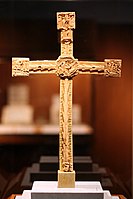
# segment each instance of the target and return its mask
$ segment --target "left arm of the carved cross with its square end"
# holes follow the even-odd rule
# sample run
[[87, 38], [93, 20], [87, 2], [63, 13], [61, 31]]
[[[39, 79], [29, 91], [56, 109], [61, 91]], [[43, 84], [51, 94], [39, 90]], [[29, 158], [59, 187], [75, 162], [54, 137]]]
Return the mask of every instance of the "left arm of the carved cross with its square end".
[[56, 61], [30, 61], [29, 58], [12, 58], [12, 76], [28, 76], [34, 73], [55, 73]]

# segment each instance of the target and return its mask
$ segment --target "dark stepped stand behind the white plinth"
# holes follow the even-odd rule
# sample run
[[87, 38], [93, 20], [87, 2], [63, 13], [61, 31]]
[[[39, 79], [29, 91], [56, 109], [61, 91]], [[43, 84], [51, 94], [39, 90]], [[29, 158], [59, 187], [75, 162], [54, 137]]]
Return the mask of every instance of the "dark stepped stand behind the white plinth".
[[[39, 163], [28, 167], [23, 176], [21, 187], [31, 189], [34, 181], [57, 181], [57, 156], [41, 156]], [[106, 168], [99, 167], [90, 156], [74, 156], [77, 181], [100, 181], [103, 189], [112, 189], [113, 184]]]

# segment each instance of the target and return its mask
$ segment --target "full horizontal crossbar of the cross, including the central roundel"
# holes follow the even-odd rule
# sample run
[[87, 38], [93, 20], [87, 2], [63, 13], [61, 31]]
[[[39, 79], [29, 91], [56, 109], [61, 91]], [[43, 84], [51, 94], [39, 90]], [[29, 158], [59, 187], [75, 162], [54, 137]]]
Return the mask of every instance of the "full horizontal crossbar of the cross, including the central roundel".
[[35, 73], [52, 73], [60, 78], [72, 79], [78, 74], [98, 74], [121, 77], [121, 60], [105, 59], [104, 62], [78, 61], [74, 57], [61, 57], [56, 61], [29, 61], [29, 58], [12, 59], [12, 76], [28, 76]]

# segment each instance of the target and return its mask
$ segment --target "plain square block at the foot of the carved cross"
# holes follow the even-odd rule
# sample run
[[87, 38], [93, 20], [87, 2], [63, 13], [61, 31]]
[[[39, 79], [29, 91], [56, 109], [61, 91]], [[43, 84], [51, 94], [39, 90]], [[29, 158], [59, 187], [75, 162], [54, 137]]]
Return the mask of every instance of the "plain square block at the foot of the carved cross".
[[74, 188], [75, 171], [63, 172], [58, 170], [58, 188]]

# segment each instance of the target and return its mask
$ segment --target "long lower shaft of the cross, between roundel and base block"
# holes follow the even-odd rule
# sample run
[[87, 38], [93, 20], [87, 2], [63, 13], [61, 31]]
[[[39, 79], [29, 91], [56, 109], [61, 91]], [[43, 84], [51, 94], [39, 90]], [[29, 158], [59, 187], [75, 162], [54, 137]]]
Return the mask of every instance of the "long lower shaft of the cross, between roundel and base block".
[[73, 171], [72, 80], [60, 80], [60, 170]]

